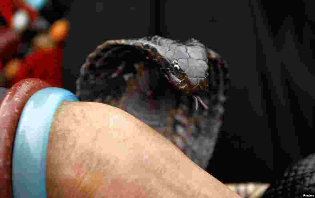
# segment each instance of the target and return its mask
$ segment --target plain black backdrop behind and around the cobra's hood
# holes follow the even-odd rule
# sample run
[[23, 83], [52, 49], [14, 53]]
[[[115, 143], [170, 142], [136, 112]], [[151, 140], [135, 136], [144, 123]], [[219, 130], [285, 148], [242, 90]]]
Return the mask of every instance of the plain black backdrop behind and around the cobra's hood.
[[64, 85], [107, 39], [195, 38], [229, 63], [232, 86], [209, 173], [222, 182], [271, 182], [314, 153], [312, 1], [75, 1], [65, 17]]

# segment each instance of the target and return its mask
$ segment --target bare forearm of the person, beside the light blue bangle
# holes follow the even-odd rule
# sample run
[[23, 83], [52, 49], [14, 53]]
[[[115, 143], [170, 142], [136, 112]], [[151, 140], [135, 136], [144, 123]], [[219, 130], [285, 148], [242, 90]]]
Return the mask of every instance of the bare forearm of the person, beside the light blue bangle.
[[46, 189], [48, 198], [239, 198], [151, 127], [96, 102], [59, 106]]

